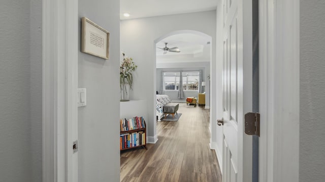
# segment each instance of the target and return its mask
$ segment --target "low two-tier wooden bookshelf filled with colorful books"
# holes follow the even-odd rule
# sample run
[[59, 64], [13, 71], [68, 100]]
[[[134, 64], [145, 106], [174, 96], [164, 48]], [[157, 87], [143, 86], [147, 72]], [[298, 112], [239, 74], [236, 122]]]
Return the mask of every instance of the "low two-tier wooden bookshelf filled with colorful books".
[[147, 149], [146, 122], [143, 117], [120, 119], [120, 150], [136, 147]]

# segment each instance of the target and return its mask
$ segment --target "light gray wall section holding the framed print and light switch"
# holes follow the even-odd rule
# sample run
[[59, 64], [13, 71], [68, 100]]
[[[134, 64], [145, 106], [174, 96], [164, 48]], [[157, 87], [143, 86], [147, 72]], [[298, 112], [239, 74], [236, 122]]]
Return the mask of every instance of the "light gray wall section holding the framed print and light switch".
[[79, 50], [78, 87], [87, 89], [87, 106], [78, 108], [79, 181], [119, 181], [120, 177], [119, 9], [119, 1], [79, 1], [79, 37], [84, 16], [110, 32], [109, 60]]

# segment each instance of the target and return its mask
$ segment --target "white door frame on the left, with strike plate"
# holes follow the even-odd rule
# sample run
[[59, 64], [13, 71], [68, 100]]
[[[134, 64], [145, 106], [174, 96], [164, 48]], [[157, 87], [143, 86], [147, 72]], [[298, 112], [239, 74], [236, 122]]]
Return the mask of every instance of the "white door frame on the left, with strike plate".
[[43, 0], [43, 181], [78, 181], [78, 0]]

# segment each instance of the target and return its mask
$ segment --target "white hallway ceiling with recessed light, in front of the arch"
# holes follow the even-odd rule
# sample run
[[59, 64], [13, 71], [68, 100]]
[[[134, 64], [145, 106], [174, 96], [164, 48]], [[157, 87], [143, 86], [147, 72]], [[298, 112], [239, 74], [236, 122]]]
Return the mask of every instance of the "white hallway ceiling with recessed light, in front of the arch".
[[[216, 0], [121, 0], [120, 19], [134, 19], [215, 10]], [[124, 17], [129, 13], [129, 17]]]

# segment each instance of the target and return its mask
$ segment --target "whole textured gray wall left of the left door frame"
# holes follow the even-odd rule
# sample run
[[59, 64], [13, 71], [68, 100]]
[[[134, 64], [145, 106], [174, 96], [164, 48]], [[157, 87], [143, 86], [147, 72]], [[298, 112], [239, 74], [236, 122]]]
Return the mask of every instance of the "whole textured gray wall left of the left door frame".
[[0, 22], [0, 181], [42, 181], [42, 1], [2, 1]]

